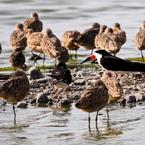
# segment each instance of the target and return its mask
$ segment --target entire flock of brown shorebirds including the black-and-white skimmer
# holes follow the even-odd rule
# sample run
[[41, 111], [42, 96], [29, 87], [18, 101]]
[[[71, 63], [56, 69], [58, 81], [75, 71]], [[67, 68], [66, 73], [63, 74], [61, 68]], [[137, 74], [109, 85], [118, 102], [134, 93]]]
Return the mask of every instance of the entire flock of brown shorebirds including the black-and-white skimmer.
[[[76, 51], [75, 58], [77, 58], [77, 50], [80, 47], [91, 50], [91, 55], [80, 64], [94, 61], [103, 69], [103, 75], [96, 81], [95, 86], [90, 86], [84, 90], [75, 106], [89, 113], [89, 130], [90, 113], [97, 112], [97, 129], [98, 112], [107, 107], [108, 104], [118, 101], [123, 93], [122, 86], [117, 79], [118, 74], [114, 72], [145, 72], [145, 64], [126, 61], [115, 56], [127, 40], [126, 33], [121, 29], [119, 23], [115, 23], [113, 28], [94, 23], [91, 28], [82, 33], [76, 30], [66, 31], [61, 41], [53, 34], [50, 28], [47, 28], [46, 31], [42, 30], [43, 23], [36, 12], [32, 13], [31, 17], [26, 19], [23, 24], [16, 25], [10, 36], [10, 45], [13, 48], [10, 57], [12, 66], [25, 70], [27, 66], [25, 65], [23, 52], [26, 47], [31, 49], [31, 60], [35, 63], [39, 59], [43, 59], [44, 63], [46, 56], [54, 58], [55, 64], [58, 61], [58, 65], [50, 76], [58, 80], [59, 83], [55, 84], [56, 87], [64, 86], [66, 96], [68, 96], [67, 90], [68, 85], [72, 82], [72, 76], [65, 63], [69, 60], [69, 57], [72, 57], [70, 51]], [[135, 43], [136, 47], [141, 51], [141, 56], [144, 60], [142, 50], [145, 50], [145, 22], [142, 23], [139, 32], [136, 34]], [[97, 49], [97, 51], [93, 52], [94, 49]], [[36, 53], [40, 54], [37, 55]], [[41, 54], [43, 54], [43, 58]], [[13, 104], [15, 125], [15, 104], [28, 95], [29, 89], [29, 79], [22, 70], [17, 70], [0, 87], [0, 98]], [[109, 120], [108, 109], [107, 116]]]

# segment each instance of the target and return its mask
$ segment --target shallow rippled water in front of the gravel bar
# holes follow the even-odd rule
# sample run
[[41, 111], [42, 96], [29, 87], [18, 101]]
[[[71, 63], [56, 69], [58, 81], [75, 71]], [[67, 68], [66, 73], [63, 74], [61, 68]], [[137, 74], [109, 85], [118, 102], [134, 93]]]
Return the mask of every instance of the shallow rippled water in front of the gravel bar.
[[109, 108], [111, 128], [106, 124], [106, 111], [99, 115], [98, 128], [95, 130], [95, 113], [91, 114], [91, 133], [88, 131], [88, 114], [77, 110], [17, 108], [18, 127], [13, 126], [12, 107], [0, 110], [1, 145], [143, 145], [145, 142], [144, 105], [121, 108]]

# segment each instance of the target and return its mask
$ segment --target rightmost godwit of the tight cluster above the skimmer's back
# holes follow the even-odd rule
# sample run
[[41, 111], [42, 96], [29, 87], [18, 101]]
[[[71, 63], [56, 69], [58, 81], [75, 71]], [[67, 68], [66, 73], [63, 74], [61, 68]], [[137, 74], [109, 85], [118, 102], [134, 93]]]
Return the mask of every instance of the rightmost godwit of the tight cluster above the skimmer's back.
[[114, 23], [113, 34], [115, 34], [118, 37], [118, 41], [121, 46], [126, 42], [126, 40], [127, 40], [126, 33], [125, 33], [125, 31], [123, 31], [121, 29], [121, 26], [119, 23]]

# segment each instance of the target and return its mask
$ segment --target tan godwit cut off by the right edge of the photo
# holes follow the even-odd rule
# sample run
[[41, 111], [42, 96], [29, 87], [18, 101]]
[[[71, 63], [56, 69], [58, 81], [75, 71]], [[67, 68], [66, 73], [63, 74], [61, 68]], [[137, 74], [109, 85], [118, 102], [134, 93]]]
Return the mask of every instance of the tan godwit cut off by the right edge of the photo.
[[143, 50], [145, 50], [145, 22], [141, 24], [139, 32], [137, 32], [135, 37], [136, 48], [141, 51], [141, 57], [144, 61]]

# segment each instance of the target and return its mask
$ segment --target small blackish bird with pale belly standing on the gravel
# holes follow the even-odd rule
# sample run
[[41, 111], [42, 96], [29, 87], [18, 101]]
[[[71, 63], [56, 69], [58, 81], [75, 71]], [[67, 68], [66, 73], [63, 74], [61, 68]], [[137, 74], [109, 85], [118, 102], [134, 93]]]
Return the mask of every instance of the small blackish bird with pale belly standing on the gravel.
[[56, 79], [53, 86], [58, 91], [55, 96], [58, 96], [61, 91], [64, 90], [66, 97], [68, 98], [69, 84], [72, 82], [72, 75], [66, 64], [60, 62], [49, 76]]

